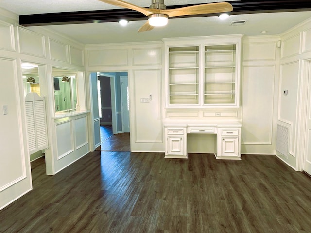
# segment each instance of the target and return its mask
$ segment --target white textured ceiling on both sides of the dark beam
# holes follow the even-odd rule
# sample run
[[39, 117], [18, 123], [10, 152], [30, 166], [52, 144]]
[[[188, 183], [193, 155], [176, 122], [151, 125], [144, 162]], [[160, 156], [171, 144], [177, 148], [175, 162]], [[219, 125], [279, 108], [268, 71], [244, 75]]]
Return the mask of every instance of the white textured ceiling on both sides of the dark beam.
[[[219, 0], [221, 1], [221, 0]], [[128, 0], [133, 4], [148, 7], [150, 0]], [[184, 5], [217, 2], [217, 0], [166, 0], [166, 5]], [[0, 7], [17, 15], [106, 10], [118, 7], [105, 4], [98, 0], [1, 0]], [[310, 11], [259, 13], [232, 15], [222, 21], [219, 17], [170, 18], [165, 27], [138, 33], [144, 21], [132, 21], [122, 27], [117, 22], [51, 25], [43, 26], [62, 33], [83, 44], [159, 41], [162, 38], [207, 36], [224, 34], [275, 35], [283, 33], [296, 24], [311, 18]], [[248, 20], [244, 25], [230, 26], [232, 21]], [[32, 27], [30, 27], [32, 28]], [[267, 33], [261, 33], [266, 31]]]

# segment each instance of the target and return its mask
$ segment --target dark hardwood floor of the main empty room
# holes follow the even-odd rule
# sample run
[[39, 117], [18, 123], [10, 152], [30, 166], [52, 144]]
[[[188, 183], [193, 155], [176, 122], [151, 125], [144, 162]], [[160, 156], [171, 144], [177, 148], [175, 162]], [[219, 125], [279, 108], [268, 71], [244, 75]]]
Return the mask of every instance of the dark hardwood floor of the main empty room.
[[1, 233], [310, 233], [311, 178], [275, 156], [87, 154], [0, 211]]

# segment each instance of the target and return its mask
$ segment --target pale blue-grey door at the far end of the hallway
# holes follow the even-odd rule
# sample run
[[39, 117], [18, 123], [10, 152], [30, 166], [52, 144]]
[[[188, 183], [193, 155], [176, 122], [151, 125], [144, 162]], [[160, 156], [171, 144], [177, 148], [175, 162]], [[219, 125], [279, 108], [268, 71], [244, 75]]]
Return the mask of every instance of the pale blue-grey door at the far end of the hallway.
[[121, 76], [121, 97], [123, 132], [130, 132], [130, 105], [127, 76]]

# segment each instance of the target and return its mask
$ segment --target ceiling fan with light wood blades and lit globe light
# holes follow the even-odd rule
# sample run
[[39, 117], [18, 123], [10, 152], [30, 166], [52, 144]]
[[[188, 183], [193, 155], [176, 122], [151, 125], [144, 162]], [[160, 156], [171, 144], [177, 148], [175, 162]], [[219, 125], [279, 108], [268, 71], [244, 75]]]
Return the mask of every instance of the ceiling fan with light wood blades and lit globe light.
[[145, 16], [148, 16], [148, 21], [144, 25], [142, 25], [142, 27], [138, 30], [138, 32], [150, 31], [154, 27], [164, 26], [167, 24], [169, 17], [221, 13], [221, 12], [230, 12], [233, 10], [232, 5], [228, 2], [199, 4], [194, 6], [186, 6], [167, 10], [166, 5], [164, 4], [164, 0], [152, 0], [149, 8], [140, 7], [122, 0], [99, 0], [99, 1], [135, 10], [144, 14]]

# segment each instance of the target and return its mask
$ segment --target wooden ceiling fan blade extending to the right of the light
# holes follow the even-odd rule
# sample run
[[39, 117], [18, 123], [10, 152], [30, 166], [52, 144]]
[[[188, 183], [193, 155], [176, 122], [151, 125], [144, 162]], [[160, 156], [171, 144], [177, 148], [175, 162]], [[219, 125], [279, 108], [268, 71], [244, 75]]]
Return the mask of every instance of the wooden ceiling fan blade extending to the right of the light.
[[230, 12], [232, 10], [233, 7], [230, 3], [217, 2], [217, 3], [207, 3], [159, 11], [162, 14], [168, 15], [169, 17], [174, 17], [174, 16], [189, 16], [189, 15], [201, 15], [209, 13]]

